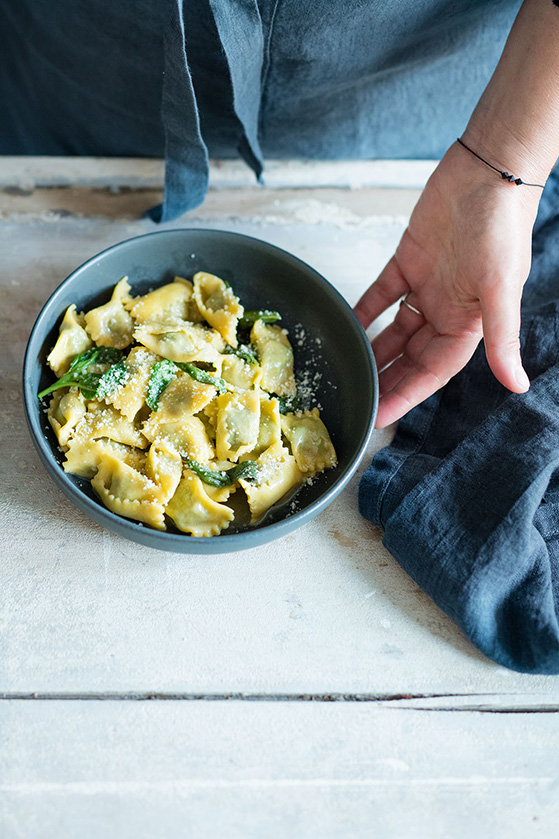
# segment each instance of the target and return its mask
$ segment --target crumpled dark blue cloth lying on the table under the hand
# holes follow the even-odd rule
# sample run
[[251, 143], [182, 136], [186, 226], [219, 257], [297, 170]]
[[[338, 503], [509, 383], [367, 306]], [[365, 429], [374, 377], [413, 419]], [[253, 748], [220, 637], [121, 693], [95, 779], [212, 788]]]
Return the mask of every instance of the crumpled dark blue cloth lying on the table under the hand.
[[559, 175], [536, 222], [511, 394], [480, 346], [399, 423], [364, 474], [362, 514], [400, 565], [487, 656], [559, 673]]

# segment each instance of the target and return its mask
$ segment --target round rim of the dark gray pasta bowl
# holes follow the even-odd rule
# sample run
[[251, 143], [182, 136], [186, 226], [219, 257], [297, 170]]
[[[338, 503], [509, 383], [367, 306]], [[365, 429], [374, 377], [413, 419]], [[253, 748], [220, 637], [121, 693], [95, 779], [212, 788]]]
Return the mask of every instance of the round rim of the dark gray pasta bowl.
[[[244, 530], [240, 533], [227, 534], [227, 532], [225, 531], [224, 533], [220, 534], [219, 537], [210, 538], [204, 536], [190, 536], [186, 533], [173, 533], [170, 531], [156, 530], [155, 528], [151, 528], [148, 525], [143, 525], [141, 522], [125, 518], [124, 516], [119, 516], [116, 513], [113, 513], [108, 508], [104, 507], [100, 501], [93, 501], [91, 498], [89, 498], [89, 496], [87, 496], [79, 487], [77, 487], [73, 483], [73, 481], [70, 478], [66, 476], [66, 473], [54, 460], [52, 446], [49, 443], [48, 439], [45, 437], [40, 426], [40, 404], [39, 402], [37, 402], [36, 394], [31, 393], [31, 385], [29, 381], [30, 376], [28, 375], [28, 369], [30, 365], [34, 363], [34, 361], [36, 360], [36, 355], [39, 350], [39, 347], [36, 346], [39, 342], [39, 331], [44, 329], [44, 324], [47, 316], [52, 316], [52, 313], [50, 313], [49, 310], [55, 304], [56, 298], [63, 295], [66, 286], [68, 286], [73, 280], [76, 279], [77, 276], [83, 273], [83, 271], [85, 271], [93, 263], [98, 262], [101, 258], [107, 256], [108, 254], [114, 251], [125, 251], [128, 248], [133, 247], [133, 245], [137, 243], [138, 240], [143, 241], [154, 236], [158, 238], [166, 236], [176, 236], [177, 234], [182, 233], [204, 233], [210, 234], [210, 236], [216, 235], [219, 237], [225, 236], [239, 239], [244, 242], [247, 242], [249, 245], [251, 243], [256, 243], [258, 247], [264, 247], [265, 250], [272, 252], [272, 254], [275, 253], [283, 259], [287, 258], [287, 260], [291, 262], [299, 270], [302, 270], [304, 272], [311, 272], [314, 275], [314, 279], [318, 281], [319, 286], [322, 286], [323, 291], [326, 292], [331, 298], [334, 298], [338, 305], [341, 305], [341, 307], [351, 315], [351, 318], [354, 319], [354, 325], [356, 327], [357, 334], [359, 335], [359, 338], [365, 347], [366, 355], [368, 356], [370, 361], [368, 371], [371, 376], [372, 404], [369, 422], [367, 423], [366, 428], [361, 434], [359, 445], [353, 457], [351, 458], [349, 464], [346, 466], [343, 474], [339, 476], [339, 478], [335, 481], [333, 486], [331, 486], [315, 501], [309, 504], [308, 507], [305, 507], [304, 509], [297, 511], [293, 513], [293, 515], [281, 519], [278, 522], [274, 522], [269, 525], [266, 525], [264, 523], [261, 526], [256, 526], [254, 529]], [[41, 341], [41, 346], [43, 342], [44, 336]], [[349, 483], [349, 481], [355, 474], [359, 466], [359, 463], [361, 462], [361, 459], [365, 454], [365, 450], [374, 430], [379, 399], [378, 371], [373, 351], [371, 349], [371, 344], [369, 342], [369, 339], [367, 338], [363, 326], [359, 322], [358, 318], [355, 316], [351, 306], [349, 305], [345, 297], [338, 291], [338, 289], [335, 288], [335, 286], [329, 280], [327, 280], [326, 277], [320, 274], [315, 268], [306, 263], [304, 260], [295, 256], [289, 251], [286, 251], [283, 248], [272, 244], [271, 242], [267, 242], [263, 239], [258, 239], [255, 236], [249, 236], [244, 233], [237, 233], [235, 231], [221, 230], [215, 228], [172, 228], [170, 230], [157, 230], [151, 233], [132, 236], [129, 239], [123, 239], [120, 242], [116, 242], [115, 244], [110, 245], [109, 247], [105, 248], [102, 251], [99, 251], [89, 259], [82, 262], [77, 268], [75, 268], [70, 274], [68, 274], [68, 276], [64, 280], [62, 280], [62, 282], [53, 290], [53, 292], [49, 295], [49, 297], [41, 307], [29, 334], [27, 346], [25, 348], [22, 374], [23, 406], [25, 412], [25, 419], [27, 422], [32, 442], [49, 476], [54, 480], [54, 482], [58, 485], [58, 487], [62, 490], [66, 497], [69, 498], [69, 500], [71, 500], [72, 503], [74, 503], [79, 510], [86, 510], [87, 515], [91, 519], [96, 521], [98, 524], [101, 524], [103, 527], [107, 528], [113, 533], [117, 533], [118, 535], [128, 538], [134, 542], [140, 542], [151, 548], [157, 548], [159, 550], [166, 550], [179, 553], [232, 553], [234, 551], [239, 550], [248, 550], [251, 547], [260, 547], [261, 545], [267, 542], [271, 542], [295, 530], [296, 528], [304, 524], [306, 521], [309, 521], [316, 515], [318, 515], [318, 513], [324, 510], [339, 495], [339, 493], [346, 487], [346, 485]], [[128, 531], [130, 531], [129, 534]], [[142, 538], [144, 536], [145, 538]], [[181, 549], [181, 545], [183, 546], [183, 549]], [[212, 545], [215, 546], [213, 549], [211, 548]], [[184, 550], [184, 547], [186, 547], [187, 550]]]

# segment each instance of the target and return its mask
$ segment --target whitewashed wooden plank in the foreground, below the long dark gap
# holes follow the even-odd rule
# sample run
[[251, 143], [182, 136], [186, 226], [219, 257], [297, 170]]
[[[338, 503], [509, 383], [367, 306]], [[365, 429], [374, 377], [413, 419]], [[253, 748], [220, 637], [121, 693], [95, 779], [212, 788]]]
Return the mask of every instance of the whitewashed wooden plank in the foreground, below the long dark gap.
[[2, 702], [5, 839], [531, 839], [559, 715], [344, 703]]

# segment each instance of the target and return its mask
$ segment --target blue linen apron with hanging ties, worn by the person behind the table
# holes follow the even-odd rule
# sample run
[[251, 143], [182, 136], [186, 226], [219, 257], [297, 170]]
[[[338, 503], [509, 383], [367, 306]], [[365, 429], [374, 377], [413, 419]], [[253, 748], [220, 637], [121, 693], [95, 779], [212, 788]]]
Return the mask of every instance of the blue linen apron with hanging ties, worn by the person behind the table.
[[208, 155], [440, 157], [519, 0], [2, 0], [0, 153], [165, 156], [168, 221]]

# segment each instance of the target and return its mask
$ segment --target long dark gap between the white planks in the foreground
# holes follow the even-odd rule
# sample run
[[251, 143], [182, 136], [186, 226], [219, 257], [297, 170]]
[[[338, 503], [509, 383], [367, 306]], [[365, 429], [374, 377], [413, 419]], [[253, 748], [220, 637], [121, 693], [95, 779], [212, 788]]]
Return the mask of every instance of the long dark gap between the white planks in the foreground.
[[518, 694], [346, 694], [346, 693], [0, 693], [1, 701], [31, 702], [315, 702], [373, 703], [415, 711], [476, 711], [495, 714], [555, 714], [559, 701]]

